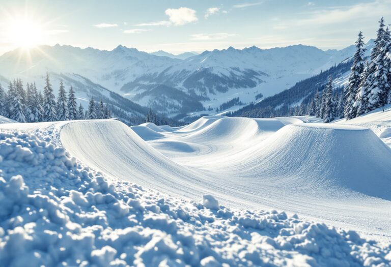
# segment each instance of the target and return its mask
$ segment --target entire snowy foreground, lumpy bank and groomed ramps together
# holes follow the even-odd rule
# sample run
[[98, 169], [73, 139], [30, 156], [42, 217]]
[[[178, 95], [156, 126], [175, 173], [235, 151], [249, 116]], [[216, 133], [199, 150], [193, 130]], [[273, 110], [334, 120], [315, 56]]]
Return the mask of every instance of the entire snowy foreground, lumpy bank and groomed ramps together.
[[366, 128], [0, 129], [0, 266], [390, 266], [391, 150]]

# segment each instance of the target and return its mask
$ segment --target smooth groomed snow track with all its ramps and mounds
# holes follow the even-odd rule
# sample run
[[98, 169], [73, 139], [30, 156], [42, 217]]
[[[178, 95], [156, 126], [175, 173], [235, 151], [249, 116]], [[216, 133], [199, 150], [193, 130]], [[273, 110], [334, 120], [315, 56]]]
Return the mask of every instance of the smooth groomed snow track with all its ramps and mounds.
[[91, 168], [165, 195], [391, 236], [391, 149], [367, 128], [208, 116], [180, 128], [70, 122], [60, 136]]

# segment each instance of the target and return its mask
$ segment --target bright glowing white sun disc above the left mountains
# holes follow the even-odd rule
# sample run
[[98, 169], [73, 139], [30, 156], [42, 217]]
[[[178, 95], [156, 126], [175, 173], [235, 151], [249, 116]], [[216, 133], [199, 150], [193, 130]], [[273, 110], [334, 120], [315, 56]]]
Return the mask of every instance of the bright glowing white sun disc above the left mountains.
[[31, 49], [43, 41], [43, 28], [30, 18], [12, 18], [7, 23], [7, 36], [14, 46]]

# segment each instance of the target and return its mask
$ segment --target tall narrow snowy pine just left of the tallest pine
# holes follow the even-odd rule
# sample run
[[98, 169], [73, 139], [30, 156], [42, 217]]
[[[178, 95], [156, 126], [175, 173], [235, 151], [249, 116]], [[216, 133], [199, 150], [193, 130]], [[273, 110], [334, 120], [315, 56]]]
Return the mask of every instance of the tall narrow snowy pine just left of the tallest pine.
[[354, 105], [355, 98], [358, 92], [358, 86], [360, 84], [360, 75], [364, 72], [365, 68], [365, 48], [364, 41], [362, 41], [364, 37], [362, 36], [362, 32], [358, 33], [358, 39], [356, 41], [356, 52], [353, 56], [353, 65], [351, 67], [351, 72], [349, 75], [348, 84], [346, 86], [346, 103], [345, 103], [345, 117], [346, 120], [350, 120], [354, 118], [357, 114], [357, 108]]

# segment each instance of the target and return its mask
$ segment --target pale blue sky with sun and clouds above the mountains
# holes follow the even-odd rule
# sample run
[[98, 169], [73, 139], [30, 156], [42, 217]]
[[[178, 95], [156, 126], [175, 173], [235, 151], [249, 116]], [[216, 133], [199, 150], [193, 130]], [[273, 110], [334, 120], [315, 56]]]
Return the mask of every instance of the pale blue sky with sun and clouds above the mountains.
[[19, 46], [118, 45], [174, 54], [312, 45], [341, 49], [391, 23], [391, 0], [0, 0], [0, 54]]

